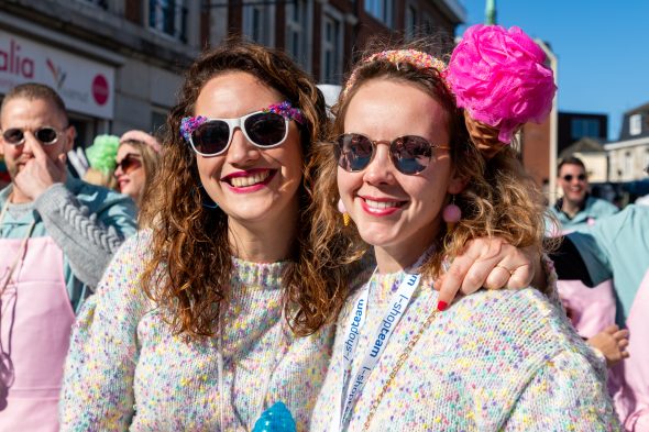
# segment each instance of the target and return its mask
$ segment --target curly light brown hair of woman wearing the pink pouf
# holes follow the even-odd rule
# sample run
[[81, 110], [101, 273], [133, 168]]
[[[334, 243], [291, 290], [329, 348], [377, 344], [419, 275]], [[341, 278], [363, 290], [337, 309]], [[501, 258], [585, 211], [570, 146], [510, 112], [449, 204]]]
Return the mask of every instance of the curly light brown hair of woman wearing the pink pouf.
[[[435, 42], [433, 42], [435, 44]], [[386, 59], [365, 62], [372, 54], [384, 49], [414, 48], [436, 55], [430, 49], [430, 41], [417, 41], [407, 46], [381, 46], [360, 56], [361, 60], [352, 70], [354, 77], [341, 93], [332, 111], [336, 115], [327, 142], [315, 146], [311, 168], [317, 178], [314, 196], [314, 224], [320, 226], [315, 232], [314, 247], [318, 253], [327, 250], [341, 250], [345, 239], [353, 246], [346, 246], [346, 255], [333, 255], [341, 263], [358, 261], [367, 250], [353, 223], [340, 231], [340, 213], [337, 202], [340, 195], [337, 188], [337, 160], [332, 142], [344, 131], [344, 119], [350, 101], [358, 90], [371, 80], [387, 79], [419, 87], [439, 102], [448, 113], [448, 131], [451, 146], [451, 162], [457, 175], [466, 181], [463, 191], [455, 196], [455, 204], [462, 210], [462, 220], [452, 231], [441, 230], [438, 242], [442, 247], [425, 263], [422, 273], [436, 277], [441, 269], [442, 259], [452, 259], [462, 253], [468, 241], [475, 237], [501, 236], [517, 247], [543, 247], [544, 204], [540, 189], [525, 173], [512, 146], [501, 149], [487, 159], [479, 151], [481, 137], [471, 136], [464, 121], [463, 110], [455, 104], [455, 98], [435, 68], [420, 68], [408, 63], [398, 65]], [[438, 58], [444, 58], [437, 55]], [[446, 56], [448, 58], [448, 56]], [[450, 197], [448, 197], [450, 199]]]

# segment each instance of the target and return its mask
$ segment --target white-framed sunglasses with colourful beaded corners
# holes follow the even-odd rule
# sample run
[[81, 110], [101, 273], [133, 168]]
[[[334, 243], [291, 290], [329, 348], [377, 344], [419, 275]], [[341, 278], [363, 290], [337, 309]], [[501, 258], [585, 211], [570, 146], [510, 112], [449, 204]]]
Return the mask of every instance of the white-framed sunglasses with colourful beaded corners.
[[258, 148], [282, 145], [288, 136], [289, 120], [301, 124], [304, 117], [300, 110], [285, 101], [238, 119], [208, 119], [202, 115], [184, 118], [180, 133], [199, 155], [218, 156], [228, 151], [238, 128]]

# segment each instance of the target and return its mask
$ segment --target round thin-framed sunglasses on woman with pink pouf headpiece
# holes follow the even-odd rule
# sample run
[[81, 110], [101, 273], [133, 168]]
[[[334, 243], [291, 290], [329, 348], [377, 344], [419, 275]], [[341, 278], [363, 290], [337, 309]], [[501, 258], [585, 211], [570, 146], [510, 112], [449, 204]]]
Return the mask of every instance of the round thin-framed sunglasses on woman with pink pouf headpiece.
[[431, 144], [428, 140], [417, 135], [405, 135], [387, 140], [370, 140], [360, 133], [345, 133], [341, 135], [334, 146], [338, 165], [349, 173], [365, 169], [374, 155], [376, 145], [389, 146], [389, 157], [395, 168], [402, 174], [414, 175], [428, 167], [432, 158], [433, 148], [451, 149], [449, 146]]

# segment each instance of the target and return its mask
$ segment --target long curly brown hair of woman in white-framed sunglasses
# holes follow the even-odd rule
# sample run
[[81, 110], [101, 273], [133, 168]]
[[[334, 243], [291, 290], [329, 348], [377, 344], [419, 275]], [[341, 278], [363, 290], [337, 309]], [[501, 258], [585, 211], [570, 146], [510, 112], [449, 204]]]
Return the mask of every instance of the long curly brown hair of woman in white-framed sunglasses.
[[[180, 121], [193, 115], [204, 86], [218, 75], [244, 71], [278, 91], [301, 110], [306, 124], [299, 128], [305, 168], [311, 143], [326, 136], [324, 99], [312, 79], [284, 53], [238, 40], [204, 53], [189, 68], [179, 101], [172, 109], [163, 139], [163, 157], [144, 202], [141, 223], [152, 226], [152, 259], [142, 278], [146, 295], [165, 313], [176, 333], [196, 336], [215, 334], [219, 308], [227, 301], [232, 273], [232, 248], [228, 241], [228, 215], [202, 206], [196, 157], [180, 136]], [[297, 235], [293, 264], [283, 275], [284, 308], [297, 334], [310, 334], [344, 300], [344, 281], [327, 273], [328, 263], [316, 256], [309, 244], [312, 210], [310, 176], [302, 170], [298, 190]]]

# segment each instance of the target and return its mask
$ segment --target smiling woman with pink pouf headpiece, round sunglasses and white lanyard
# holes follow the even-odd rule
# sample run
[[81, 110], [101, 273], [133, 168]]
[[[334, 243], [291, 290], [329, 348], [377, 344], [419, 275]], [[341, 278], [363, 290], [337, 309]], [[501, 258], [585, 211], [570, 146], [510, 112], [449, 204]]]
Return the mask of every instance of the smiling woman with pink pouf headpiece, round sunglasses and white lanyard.
[[557, 299], [483, 290], [433, 307], [431, 280], [468, 239], [542, 247], [542, 197], [506, 144], [554, 91], [517, 27], [468, 29], [448, 68], [413, 46], [354, 67], [314, 160], [314, 202], [340, 230], [342, 200], [377, 267], [339, 315], [312, 431], [617, 430], [605, 366]]

